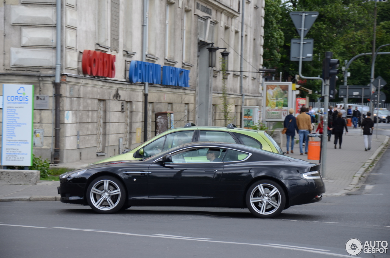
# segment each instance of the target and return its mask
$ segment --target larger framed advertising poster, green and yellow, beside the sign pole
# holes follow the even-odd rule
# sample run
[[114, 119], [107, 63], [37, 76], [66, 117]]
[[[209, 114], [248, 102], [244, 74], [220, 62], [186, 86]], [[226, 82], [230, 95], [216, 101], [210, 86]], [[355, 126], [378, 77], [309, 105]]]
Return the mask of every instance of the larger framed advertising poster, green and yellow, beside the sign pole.
[[264, 90], [266, 97], [264, 120], [284, 121], [289, 110], [291, 83], [266, 83]]

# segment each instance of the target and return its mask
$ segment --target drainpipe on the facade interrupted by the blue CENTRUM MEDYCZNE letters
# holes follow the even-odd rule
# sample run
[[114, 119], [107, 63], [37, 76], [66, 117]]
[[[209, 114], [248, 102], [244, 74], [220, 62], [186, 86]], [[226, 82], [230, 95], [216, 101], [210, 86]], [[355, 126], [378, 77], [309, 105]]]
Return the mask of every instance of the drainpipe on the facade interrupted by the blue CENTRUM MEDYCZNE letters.
[[[142, 37], [142, 61], [145, 62], [146, 61], [146, 42], [147, 42], [147, 37], [148, 37], [148, 34], [147, 34], [147, 16], [146, 16], [146, 12], [147, 10], [149, 9], [149, 0], [144, 0], [144, 18], [143, 18], [143, 22], [142, 22], [142, 34], [143, 34], [143, 37]], [[144, 142], [147, 141], [147, 121], [148, 121], [148, 117], [147, 117], [147, 96], [148, 96], [148, 87], [149, 87], [149, 83], [145, 82], [144, 83]]]

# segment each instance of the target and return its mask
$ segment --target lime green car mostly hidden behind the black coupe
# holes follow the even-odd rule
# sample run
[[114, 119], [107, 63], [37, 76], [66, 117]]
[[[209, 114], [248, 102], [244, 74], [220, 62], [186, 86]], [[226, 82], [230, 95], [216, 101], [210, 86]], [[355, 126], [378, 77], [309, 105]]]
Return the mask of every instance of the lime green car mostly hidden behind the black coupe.
[[194, 124], [188, 123], [184, 127], [168, 129], [124, 154], [108, 157], [93, 164], [108, 161], [142, 159], [194, 141], [239, 143], [283, 154], [280, 146], [266, 131], [242, 129], [233, 124], [229, 124], [227, 127], [211, 127], [195, 126]]

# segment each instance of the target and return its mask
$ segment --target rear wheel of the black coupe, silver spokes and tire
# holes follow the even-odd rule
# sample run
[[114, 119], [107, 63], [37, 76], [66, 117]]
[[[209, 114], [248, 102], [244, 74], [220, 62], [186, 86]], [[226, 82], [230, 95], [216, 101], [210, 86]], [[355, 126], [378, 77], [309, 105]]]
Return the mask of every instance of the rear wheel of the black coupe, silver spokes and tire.
[[245, 201], [246, 207], [255, 217], [268, 219], [278, 216], [282, 212], [286, 196], [277, 182], [259, 180], [249, 187]]

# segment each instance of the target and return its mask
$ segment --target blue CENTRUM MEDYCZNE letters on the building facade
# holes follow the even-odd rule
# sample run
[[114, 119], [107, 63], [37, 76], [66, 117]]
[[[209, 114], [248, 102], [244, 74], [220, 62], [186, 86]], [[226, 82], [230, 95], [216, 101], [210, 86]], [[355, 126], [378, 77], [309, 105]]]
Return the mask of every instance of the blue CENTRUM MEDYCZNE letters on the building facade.
[[[163, 85], [190, 87], [190, 70], [179, 67], [163, 66]], [[129, 67], [129, 81], [132, 83], [147, 82], [161, 84], [161, 65], [142, 61], [131, 61]]]

